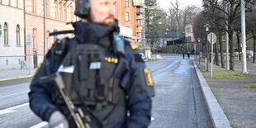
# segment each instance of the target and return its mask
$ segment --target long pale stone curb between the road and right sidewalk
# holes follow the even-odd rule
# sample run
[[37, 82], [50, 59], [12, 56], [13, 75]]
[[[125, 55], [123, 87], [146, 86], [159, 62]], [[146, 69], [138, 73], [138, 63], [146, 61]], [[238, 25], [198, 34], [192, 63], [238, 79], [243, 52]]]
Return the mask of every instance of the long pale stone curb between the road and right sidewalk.
[[201, 86], [201, 92], [205, 98], [207, 110], [211, 117], [211, 122], [215, 128], [231, 128], [230, 121], [224, 114], [224, 111], [220, 107], [220, 104], [217, 102], [216, 97], [214, 97], [211, 92], [211, 88], [206, 83], [206, 79], [201, 74], [200, 70], [197, 68], [197, 64], [193, 61], [195, 70], [197, 72], [197, 78]]

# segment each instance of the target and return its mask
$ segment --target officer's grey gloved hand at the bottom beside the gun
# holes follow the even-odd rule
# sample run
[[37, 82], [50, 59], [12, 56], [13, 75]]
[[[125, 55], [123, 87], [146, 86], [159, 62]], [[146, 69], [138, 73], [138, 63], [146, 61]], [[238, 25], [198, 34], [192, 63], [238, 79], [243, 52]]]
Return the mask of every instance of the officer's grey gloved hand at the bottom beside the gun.
[[55, 111], [50, 116], [49, 128], [69, 128], [69, 122], [60, 111]]

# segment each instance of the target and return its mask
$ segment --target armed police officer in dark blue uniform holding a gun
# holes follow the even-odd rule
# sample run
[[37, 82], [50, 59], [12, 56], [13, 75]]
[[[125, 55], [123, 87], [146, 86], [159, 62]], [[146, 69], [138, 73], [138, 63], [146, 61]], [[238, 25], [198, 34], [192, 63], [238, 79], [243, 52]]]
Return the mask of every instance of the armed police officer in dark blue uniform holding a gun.
[[77, 0], [75, 37], [56, 40], [31, 81], [31, 110], [50, 128], [149, 126], [154, 81], [137, 46], [118, 35], [115, 4]]

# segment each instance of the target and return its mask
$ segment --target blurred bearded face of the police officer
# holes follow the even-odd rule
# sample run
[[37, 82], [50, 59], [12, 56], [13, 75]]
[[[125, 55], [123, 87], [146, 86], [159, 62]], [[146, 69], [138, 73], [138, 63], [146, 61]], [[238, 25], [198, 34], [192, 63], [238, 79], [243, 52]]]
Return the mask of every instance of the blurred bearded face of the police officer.
[[115, 23], [116, 0], [91, 0], [92, 21], [113, 26]]

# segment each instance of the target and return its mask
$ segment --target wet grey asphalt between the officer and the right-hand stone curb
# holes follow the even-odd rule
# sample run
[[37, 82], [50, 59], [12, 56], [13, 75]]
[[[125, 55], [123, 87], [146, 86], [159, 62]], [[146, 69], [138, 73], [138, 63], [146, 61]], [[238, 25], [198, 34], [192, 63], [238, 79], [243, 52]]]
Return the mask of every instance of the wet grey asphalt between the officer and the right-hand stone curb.
[[182, 55], [163, 58], [147, 63], [156, 84], [150, 127], [211, 128], [192, 59], [180, 59]]

